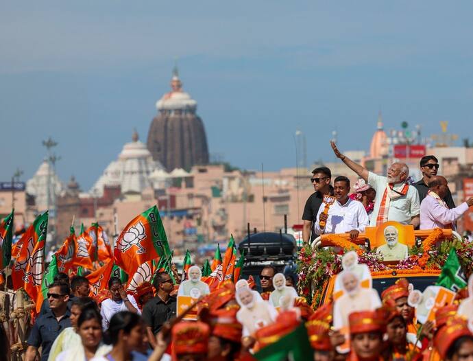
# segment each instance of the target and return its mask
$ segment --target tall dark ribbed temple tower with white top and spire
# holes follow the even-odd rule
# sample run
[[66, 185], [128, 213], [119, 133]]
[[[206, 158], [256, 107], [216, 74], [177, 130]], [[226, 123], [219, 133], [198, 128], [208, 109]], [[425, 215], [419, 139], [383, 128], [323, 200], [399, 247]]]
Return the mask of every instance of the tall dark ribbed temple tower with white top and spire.
[[175, 168], [190, 170], [208, 163], [207, 137], [197, 102], [182, 91], [178, 69], [173, 70], [171, 91], [156, 102], [158, 115], [149, 127], [147, 147], [153, 159], [168, 172]]

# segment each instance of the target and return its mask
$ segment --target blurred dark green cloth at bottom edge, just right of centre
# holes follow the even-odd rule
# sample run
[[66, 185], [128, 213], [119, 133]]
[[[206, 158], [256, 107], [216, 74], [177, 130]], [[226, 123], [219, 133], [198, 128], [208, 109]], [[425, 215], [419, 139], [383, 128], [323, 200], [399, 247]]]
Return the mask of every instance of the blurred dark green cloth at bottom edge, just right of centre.
[[287, 360], [287, 358], [293, 361], [312, 360], [313, 350], [308, 342], [304, 323], [290, 334], [260, 349], [260, 351], [255, 353], [254, 358], [264, 361], [283, 361]]

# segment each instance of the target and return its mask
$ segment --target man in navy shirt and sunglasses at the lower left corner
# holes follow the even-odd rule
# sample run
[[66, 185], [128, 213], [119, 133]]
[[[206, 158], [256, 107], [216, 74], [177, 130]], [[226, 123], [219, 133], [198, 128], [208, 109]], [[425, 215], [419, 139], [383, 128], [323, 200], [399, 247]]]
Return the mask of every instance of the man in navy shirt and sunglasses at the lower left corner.
[[39, 316], [33, 325], [32, 331], [27, 340], [28, 348], [25, 354], [25, 361], [33, 361], [41, 346], [41, 361], [46, 361], [49, 351], [56, 337], [66, 327], [71, 327], [71, 312], [67, 308], [69, 301], [69, 285], [53, 282], [48, 287], [47, 300], [49, 310]]

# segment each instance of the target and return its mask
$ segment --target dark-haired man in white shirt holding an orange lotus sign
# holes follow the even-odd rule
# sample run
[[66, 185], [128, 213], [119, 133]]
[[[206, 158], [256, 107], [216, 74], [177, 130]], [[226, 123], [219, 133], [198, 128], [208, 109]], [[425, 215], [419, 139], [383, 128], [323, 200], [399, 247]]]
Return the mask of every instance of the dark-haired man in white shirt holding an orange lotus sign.
[[[330, 205], [328, 213], [324, 207], [319, 208], [315, 233], [350, 233], [350, 239], [356, 240], [360, 232], [365, 231], [368, 225], [368, 215], [363, 203], [348, 197], [350, 180], [345, 176], [337, 176], [333, 183], [334, 195], [337, 200]], [[325, 221], [325, 227], [320, 226], [320, 221]]]

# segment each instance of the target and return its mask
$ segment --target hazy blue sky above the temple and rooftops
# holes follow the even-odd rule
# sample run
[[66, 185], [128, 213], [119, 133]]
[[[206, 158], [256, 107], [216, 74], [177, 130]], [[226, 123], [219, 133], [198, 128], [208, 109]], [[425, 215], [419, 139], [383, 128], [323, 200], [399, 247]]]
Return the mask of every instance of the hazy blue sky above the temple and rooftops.
[[210, 153], [277, 170], [367, 149], [378, 110], [472, 137], [471, 1], [2, 1], [0, 180], [26, 180], [60, 144], [58, 173], [88, 189], [155, 103], [178, 57]]

